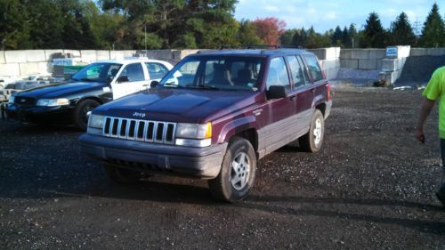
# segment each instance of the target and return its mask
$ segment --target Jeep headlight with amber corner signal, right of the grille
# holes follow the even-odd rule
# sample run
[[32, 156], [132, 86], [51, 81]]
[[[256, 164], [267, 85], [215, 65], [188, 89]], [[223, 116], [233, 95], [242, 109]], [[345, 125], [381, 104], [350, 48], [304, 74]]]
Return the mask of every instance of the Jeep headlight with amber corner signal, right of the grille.
[[176, 126], [176, 145], [204, 148], [212, 144], [212, 123]]

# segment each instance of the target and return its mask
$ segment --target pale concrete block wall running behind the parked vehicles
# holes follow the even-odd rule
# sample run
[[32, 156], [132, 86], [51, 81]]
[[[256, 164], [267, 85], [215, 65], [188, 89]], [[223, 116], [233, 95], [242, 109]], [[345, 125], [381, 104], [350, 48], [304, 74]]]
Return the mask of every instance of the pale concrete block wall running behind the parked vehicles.
[[[395, 61], [385, 60], [385, 49], [340, 49], [339, 47], [308, 50], [316, 54], [321, 68], [328, 79], [337, 77], [340, 68], [358, 70], [382, 70], [384, 72], [401, 71], [403, 59]], [[445, 55], [445, 48], [413, 48], [400, 49], [402, 58], [408, 56], [439, 56]], [[33, 74], [51, 75], [53, 72], [52, 59], [55, 53], [69, 53], [77, 58], [80, 64], [88, 64], [95, 60], [122, 60], [133, 56], [137, 51], [94, 51], [94, 50], [25, 50], [0, 51], [0, 77], [25, 77]], [[173, 64], [182, 58], [196, 53], [198, 50], [150, 50], [150, 59], [167, 60]], [[390, 69], [393, 69], [392, 71]], [[400, 72], [399, 72], [400, 73]], [[398, 72], [392, 73], [397, 75]], [[397, 76], [393, 77], [397, 77]], [[400, 75], [400, 74], [399, 74]]]

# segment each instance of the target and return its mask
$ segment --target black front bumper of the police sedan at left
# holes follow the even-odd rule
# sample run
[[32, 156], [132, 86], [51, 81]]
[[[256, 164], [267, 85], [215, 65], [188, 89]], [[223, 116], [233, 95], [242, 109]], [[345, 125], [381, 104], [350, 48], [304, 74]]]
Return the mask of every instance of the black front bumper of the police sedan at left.
[[21, 122], [71, 124], [74, 107], [39, 107], [8, 104], [6, 115]]

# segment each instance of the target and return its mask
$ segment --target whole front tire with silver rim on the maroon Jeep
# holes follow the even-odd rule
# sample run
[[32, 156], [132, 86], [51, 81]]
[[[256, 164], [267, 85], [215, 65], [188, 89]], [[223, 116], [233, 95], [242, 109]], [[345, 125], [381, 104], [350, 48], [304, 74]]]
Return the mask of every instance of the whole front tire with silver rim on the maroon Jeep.
[[236, 202], [246, 198], [254, 186], [255, 171], [256, 156], [252, 144], [244, 138], [235, 137], [223, 157], [220, 173], [208, 181], [208, 186], [214, 198]]

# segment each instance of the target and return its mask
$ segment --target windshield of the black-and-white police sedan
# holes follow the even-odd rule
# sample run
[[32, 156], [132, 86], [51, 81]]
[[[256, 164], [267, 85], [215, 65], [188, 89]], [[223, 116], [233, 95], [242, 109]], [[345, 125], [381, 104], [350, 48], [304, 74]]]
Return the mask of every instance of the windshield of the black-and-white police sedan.
[[84, 69], [80, 69], [71, 80], [77, 82], [100, 82], [110, 83], [117, 72], [122, 67], [122, 64], [99, 62], [86, 66]]

